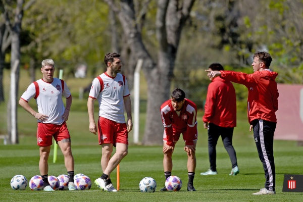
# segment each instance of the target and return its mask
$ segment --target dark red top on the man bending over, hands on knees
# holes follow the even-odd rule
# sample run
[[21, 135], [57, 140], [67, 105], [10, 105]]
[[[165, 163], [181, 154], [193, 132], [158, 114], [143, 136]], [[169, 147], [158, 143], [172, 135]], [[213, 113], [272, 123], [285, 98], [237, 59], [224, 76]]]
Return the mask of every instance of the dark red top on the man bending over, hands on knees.
[[186, 139], [187, 145], [193, 145], [193, 137], [196, 135], [194, 126], [197, 123], [197, 106], [189, 99], [185, 98], [180, 116], [172, 107], [171, 99], [161, 105], [162, 122], [167, 136], [167, 145], [173, 146], [173, 127], [178, 131], [186, 130], [189, 139]]

